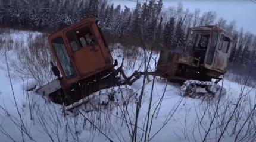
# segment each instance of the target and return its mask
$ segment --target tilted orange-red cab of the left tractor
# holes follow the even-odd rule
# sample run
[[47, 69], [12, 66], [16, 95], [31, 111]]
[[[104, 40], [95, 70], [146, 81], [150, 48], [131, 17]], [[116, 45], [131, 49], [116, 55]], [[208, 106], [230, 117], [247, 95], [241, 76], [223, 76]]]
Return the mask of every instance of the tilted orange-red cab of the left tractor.
[[60, 84], [68, 87], [90, 76], [104, 76], [113, 58], [94, 18], [86, 18], [48, 37], [61, 72]]

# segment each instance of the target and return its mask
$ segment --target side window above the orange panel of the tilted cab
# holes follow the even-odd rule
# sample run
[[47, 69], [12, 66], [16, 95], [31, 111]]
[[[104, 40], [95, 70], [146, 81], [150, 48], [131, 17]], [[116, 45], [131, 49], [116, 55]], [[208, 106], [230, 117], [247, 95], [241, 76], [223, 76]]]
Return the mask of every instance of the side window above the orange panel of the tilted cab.
[[95, 38], [88, 26], [68, 31], [67, 38], [73, 51], [95, 45]]

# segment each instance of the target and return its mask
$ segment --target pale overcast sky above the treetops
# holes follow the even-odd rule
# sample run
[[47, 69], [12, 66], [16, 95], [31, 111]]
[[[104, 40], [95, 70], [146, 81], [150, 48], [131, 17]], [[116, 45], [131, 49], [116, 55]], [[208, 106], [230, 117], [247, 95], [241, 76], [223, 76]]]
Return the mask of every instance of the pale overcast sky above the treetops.
[[[136, 5], [133, 1], [136, 0], [110, 0], [115, 6], [120, 4], [122, 7], [126, 5], [130, 8]], [[189, 8], [190, 11], [201, 9], [201, 14], [216, 11], [217, 18], [223, 17], [228, 22], [235, 20], [237, 28], [243, 27], [243, 30], [256, 34], [256, 0], [163, 0], [164, 8], [177, 6], [179, 2], [182, 2], [184, 8]]]

